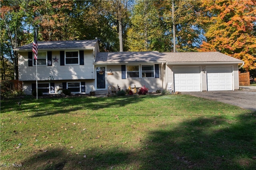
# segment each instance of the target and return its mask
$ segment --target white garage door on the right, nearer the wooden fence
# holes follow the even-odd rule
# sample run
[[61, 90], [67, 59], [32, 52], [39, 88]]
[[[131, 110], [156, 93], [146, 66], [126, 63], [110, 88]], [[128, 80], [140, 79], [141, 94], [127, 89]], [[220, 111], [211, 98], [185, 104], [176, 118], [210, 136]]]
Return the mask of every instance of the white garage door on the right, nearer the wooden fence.
[[232, 66], [207, 66], [207, 90], [233, 90]]

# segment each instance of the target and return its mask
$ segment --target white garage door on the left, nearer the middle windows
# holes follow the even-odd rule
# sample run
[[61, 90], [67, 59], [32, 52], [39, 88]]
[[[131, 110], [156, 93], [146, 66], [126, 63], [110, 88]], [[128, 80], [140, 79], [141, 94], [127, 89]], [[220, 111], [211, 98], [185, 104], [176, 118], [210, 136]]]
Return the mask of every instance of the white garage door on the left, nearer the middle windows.
[[175, 92], [200, 92], [201, 71], [198, 66], [174, 67]]

